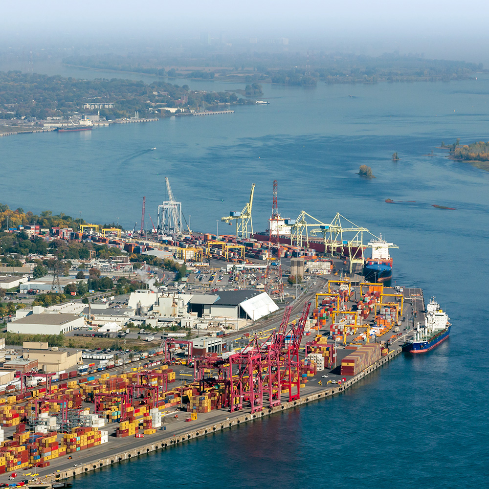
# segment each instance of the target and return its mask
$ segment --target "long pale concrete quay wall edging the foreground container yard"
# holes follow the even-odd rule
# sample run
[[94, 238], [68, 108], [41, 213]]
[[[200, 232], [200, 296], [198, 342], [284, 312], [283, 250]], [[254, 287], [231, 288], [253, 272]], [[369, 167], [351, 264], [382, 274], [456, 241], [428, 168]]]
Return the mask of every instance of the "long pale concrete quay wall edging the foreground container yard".
[[[397, 341], [402, 340], [405, 335], [400, 336]], [[226, 428], [233, 428], [235, 426], [239, 426], [245, 422], [251, 422], [258, 419], [263, 419], [272, 414], [276, 414], [282, 411], [286, 411], [288, 409], [296, 408], [304, 404], [308, 404], [310, 402], [319, 401], [323, 399], [327, 399], [329, 397], [333, 397], [334, 395], [341, 394], [347, 389], [351, 388], [358, 381], [366, 376], [370, 375], [372, 372], [375, 372], [379, 367], [388, 363], [396, 356], [398, 356], [402, 352], [400, 346], [397, 346], [394, 350], [390, 351], [387, 356], [382, 357], [376, 363], [365, 369], [360, 374], [355, 377], [345, 381], [344, 384], [336, 387], [312, 387], [307, 386], [302, 389], [302, 391], [308, 391], [304, 393], [299, 399], [293, 401], [283, 401], [280, 405], [275, 407], [267, 407], [264, 408], [263, 411], [251, 413], [247, 409], [236, 411], [234, 413], [230, 413], [228, 411], [220, 411], [219, 414], [222, 416], [219, 417], [219, 420], [216, 422], [211, 422], [209, 424], [205, 424], [198, 428], [193, 428], [195, 425], [190, 425], [190, 430], [183, 430], [181, 433], [174, 434], [173, 436], [159, 437], [154, 441], [147, 443], [144, 438], [140, 439], [141, 444], [131, 447], [126, 450], [117, 451], [110, 456], [101, 456], [94, 457], [91, 460], [78, 465], [77, 467], [66, 467], [66, 468], [56, 468], [53, 467], [51, 470], [55, 469], [55, 472], [47, 473], [42, 476], [43, 482], [60, 482], [61, 480], [76, 478], [77, 475], [86, 474], [87, 472], [95, 471], [96, 469], [113, 466], [117, 463], [122, 463], [126, 460], [131, 460], [133, 458], [138, 458], [141, 455], [149, 454], [151, 452], [157, 452], [158, 450], [165, 450], [166, 448], [170, 448], [174, 445], [183, 444], [185, 442], [189, 442], [191, 440], [202, 438], [207, 434], [215, 433], [216, 431], [223, 431]], [[309, 389], [308, 389], [309, 388]], [[159, 431], [156, 431], [156, 434], [159, 434]], [[155, 437], [155, 435], [148, 435], [148, 437]], [[130, 439], [138, 440], [138, 439]], [[105, 445], [102, 445], [102, 453], [106, 452]], [[38, 469], [41, 471], [40, 469]]]

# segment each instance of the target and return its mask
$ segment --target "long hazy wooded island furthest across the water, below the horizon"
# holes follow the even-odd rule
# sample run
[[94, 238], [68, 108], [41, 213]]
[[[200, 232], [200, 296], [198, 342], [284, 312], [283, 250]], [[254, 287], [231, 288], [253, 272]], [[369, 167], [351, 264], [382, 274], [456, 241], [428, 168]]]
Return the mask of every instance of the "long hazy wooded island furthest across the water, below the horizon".
[[182, 53], [178, 60], [165, 52], [128, 55], [72, 55], [66, 65], [156, 76], [265, 82], [284, 85], [326, 83], [377, 83], [402, 81], [449, 81], [467, 79], [483, 69], [482, 64], [431, 60], [420, 55], [385, 53], [378, 57], [302, 52], [209, 52]]

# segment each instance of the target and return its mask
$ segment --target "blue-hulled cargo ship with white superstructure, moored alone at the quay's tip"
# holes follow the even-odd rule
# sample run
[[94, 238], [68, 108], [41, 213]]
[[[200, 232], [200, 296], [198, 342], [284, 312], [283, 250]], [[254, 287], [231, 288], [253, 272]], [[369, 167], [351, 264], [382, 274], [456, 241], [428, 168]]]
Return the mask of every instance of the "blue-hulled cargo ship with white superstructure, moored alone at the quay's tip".
[[409, 342], [402, 346], [402, 351], [424, 353], [433, 350], [450, 334], [451, 323], [446, 312], [442, 311], [438, 302], [432, 297], [426, 306], [424, 327], [418, 323], [414, 335]]

